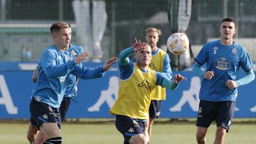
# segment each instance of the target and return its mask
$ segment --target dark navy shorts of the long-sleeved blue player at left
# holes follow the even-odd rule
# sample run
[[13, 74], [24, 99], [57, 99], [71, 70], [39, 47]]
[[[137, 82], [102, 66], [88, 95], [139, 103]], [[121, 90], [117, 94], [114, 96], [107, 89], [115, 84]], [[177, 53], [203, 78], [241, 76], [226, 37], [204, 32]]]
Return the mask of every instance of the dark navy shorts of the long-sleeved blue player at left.
[[57, 123], [60, 129], [60, 111], [58, 109], [46, 103], [35, 101], [33, 98], [31, 99], [29, 109], [31, 113], [30, 122], [38, 130], [40, 130], [39, 127], [43, 123]]

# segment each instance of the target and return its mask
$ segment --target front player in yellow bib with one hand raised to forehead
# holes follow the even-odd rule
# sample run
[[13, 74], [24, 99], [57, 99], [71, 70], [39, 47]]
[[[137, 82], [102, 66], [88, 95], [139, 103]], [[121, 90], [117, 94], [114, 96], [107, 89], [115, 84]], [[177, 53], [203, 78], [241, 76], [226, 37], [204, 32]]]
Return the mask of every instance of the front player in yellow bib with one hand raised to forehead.
[[[137, 62], [129, 60], [132, 53]], [[176, 89], [178, 82], [186, 79], [177, 74], [172, 82], [164, 74], [151, 70], [150, 61], [150, 45], [138, 43], [137, 40], [132, 48], [122, 50], [119, 54], [119, 92], [110, 114], [116, 115], [115, 126], [124, 135], [124, 143], [149, 143], [144, 134], [144, 126], [149, 118], [149, 105], [155, 96], [156, 85]]]

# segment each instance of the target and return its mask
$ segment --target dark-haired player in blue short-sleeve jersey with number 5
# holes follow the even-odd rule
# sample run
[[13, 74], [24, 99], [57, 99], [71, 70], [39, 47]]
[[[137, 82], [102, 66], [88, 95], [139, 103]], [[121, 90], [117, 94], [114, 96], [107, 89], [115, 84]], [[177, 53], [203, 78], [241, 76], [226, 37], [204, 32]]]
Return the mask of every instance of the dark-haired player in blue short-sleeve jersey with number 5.
[[[217, 124], [214, 143], [224, 143], [235, 111], [238, 87], [255, 79], [250, 56], [243, 46], [233, 41], [235, 21], [224, 18], [219, 31], [220, 40], [206, 43], [196, 56], [196, 64], [193, 66], [193, 71], [203, 77], [196, 121], [198, 143], [206, 143], [206, 133], [213, 120]], [[203, 71], [200, 67], [205, 63], [206, 71]], [[240, 67], [246, 75], [237, 79]]]

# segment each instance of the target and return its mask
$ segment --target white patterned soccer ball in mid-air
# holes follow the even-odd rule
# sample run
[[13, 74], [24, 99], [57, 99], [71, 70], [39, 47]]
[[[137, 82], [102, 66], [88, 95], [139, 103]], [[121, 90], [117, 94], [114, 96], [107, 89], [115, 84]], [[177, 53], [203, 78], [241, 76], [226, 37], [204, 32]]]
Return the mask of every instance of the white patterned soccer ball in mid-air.
[[167, 40], [167, 48], [174, 55], [181, 55], [189, 47], [188, 37], [183, 33], [174, 33]]

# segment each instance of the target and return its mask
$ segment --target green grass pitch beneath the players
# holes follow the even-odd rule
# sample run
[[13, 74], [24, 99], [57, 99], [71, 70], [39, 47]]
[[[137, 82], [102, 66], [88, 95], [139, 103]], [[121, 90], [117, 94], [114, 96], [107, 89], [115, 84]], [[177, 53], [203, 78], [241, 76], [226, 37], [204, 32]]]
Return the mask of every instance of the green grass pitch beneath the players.
[[[27, 144], [26, 123], [0, 123], [0, 144]], [[61, 130], [64, 144], [121, 144], [122, 135], [114, 123], [81, 124], [64, 123]], [[225, 144], [256, 143], [255, 123], [235, 123], [226, 135]], [[196, 126], [194, 123], [156, 123], [153, 127], [151, 144], [190, 144], [196, 143]], [[208, 131], [207, 142], [213, 143], [215, 123]]]

